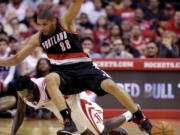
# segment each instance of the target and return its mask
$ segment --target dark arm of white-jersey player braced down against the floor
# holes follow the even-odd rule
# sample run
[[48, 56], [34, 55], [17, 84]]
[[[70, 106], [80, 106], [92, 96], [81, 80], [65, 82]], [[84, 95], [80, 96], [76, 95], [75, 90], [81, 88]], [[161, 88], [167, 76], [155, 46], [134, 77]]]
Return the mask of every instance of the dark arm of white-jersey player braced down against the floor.
[[16, 132], [18, 131], [18, 129], [20, 128], [23, 122], [25, 111], [26, 111], [26, 104], [18, 96], [17, 112], [13, 120], [13, 125], [12, 125], [10, 135], [16, 135]]

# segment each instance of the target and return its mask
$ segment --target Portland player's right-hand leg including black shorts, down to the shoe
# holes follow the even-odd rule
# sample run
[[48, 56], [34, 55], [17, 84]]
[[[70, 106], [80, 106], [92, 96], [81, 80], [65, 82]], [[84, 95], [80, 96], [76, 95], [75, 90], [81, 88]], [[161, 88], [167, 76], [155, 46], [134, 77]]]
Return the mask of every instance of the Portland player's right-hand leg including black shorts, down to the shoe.
[[136, 117], [141, 125], [144, 125], [144, 129], [150, 132], [152, 125], [145, 119], [142, 112], [135, 105], [129, 94], [117, 86], [117, 84], [110, 79], [104, 71], [97, 68], [95, 64], [89, 64], [85, 68], [81, 69], [80, 72], [81, 85], [85, 85], [85, 88], [92, 90], [98, 96], [110, 93], [114, 95], [117, 100], [126, 107]]

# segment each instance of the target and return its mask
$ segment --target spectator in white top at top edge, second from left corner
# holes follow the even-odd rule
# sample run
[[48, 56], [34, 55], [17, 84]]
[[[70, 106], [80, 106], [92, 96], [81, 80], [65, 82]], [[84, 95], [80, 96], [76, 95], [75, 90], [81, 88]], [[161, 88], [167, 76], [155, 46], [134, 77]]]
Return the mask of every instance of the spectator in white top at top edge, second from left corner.
[[26, 16], [26, 9], [28, 8], [26, 4], [24, 0], [12, 0], [8, 4], [8, 10], [17, 15], [18, 21], [22, 21]]

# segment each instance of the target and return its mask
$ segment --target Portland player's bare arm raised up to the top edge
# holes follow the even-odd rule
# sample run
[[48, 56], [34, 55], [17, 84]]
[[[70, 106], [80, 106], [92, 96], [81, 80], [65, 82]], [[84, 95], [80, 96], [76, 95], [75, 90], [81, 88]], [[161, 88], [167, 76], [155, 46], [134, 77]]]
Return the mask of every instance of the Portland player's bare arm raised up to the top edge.
[[83, 3], [83, 0], [72, 0], [69, 9], [64, 13], [64, 15], [60, 19], [60, 24], [64, 28], [74, 31], [74, 28], [72, 28], [73, 27], [72, 25], [74, 24], [74, 20], [80, 11], [82, 3]]

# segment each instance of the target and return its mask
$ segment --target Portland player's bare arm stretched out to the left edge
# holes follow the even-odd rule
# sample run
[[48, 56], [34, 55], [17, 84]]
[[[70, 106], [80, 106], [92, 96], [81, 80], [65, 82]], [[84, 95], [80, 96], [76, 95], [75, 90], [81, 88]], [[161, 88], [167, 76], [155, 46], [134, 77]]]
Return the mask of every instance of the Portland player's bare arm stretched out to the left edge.
[[18, 65], [24, 60], [25, 57], [27, 57], [36, 46], [39, 44], [39, 34], [33, 35], [26, 47], [24, 47], [22, 50], [20, 50], [16, 55], [10, 56], [6, 59], [0, 60], [0, 66], [14, 66]]

